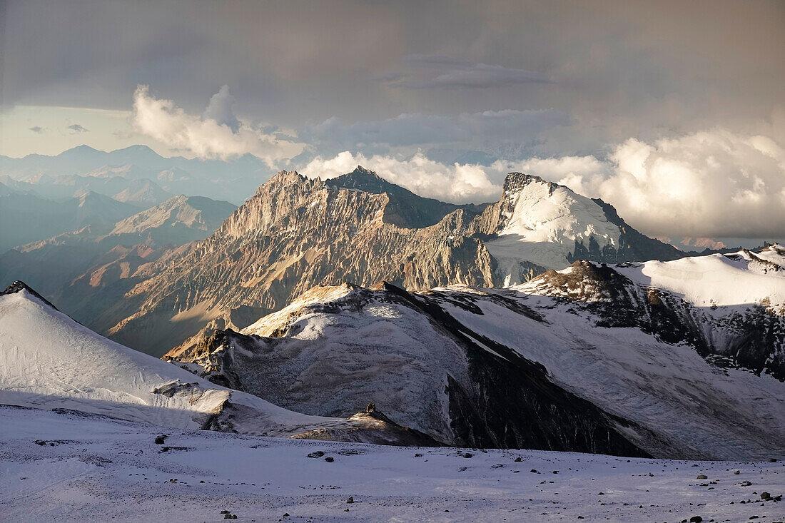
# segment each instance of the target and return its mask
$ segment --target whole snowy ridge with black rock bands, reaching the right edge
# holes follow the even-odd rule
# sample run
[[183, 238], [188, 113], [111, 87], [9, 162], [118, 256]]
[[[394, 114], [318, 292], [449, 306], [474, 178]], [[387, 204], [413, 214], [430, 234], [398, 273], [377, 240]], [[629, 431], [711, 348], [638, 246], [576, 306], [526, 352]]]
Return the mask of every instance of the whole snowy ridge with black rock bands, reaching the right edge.
[[370, 396], [448, 444], [761, 458], [785, 448], [783, 267], [775, 245], [509, 289], [316, 287], [165, 358], [313, 415]]

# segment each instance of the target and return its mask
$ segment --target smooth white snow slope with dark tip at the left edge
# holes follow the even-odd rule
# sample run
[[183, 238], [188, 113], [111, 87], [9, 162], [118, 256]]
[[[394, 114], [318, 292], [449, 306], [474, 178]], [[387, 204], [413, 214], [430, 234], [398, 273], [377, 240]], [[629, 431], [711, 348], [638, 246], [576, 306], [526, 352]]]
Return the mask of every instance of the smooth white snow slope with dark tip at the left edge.
[[0, 404], [269, 435], [338, 421], [287, 411], [111, 342], [25, 288], [0, 295]]

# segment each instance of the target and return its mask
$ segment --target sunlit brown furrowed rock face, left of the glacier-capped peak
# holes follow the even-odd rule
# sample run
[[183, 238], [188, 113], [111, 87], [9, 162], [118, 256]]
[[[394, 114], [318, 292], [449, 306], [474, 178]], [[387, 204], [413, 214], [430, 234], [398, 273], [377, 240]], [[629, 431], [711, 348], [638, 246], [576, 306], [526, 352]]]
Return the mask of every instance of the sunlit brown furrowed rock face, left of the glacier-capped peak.
[[278, 174], [214, 235], [134, 287], [136, 312], [122, 303], [108, 311], [121, 319], [108, 332], [161, 354], [211, 320], [245, 327], [255, 318], [235, 323], [235, 311], [251, 308], [259, 317], [318, 284], [495, 285], [484, 244], [464, 234], [474, 214], [458, 208], [435, 225], [408, 229], [385, 221], [389, 205], [387, 194]]

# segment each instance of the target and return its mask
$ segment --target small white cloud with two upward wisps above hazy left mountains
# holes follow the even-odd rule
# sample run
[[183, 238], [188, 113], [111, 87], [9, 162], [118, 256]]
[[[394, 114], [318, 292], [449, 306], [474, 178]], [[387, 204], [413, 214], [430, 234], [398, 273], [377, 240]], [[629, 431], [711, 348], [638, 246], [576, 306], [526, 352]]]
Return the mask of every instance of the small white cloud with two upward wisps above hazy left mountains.
[[137, 86], [131, 118], [140, 133], [202, 159], [228, 159], [250, 153], [272, 163], [302, 149], [301, 144], [280, 140], [239, 121], [232, 112], [232, 97], [226, 86], [210, 99], [202, 116], [190, 115], [173, 101], [152, 96], [148, 86]]

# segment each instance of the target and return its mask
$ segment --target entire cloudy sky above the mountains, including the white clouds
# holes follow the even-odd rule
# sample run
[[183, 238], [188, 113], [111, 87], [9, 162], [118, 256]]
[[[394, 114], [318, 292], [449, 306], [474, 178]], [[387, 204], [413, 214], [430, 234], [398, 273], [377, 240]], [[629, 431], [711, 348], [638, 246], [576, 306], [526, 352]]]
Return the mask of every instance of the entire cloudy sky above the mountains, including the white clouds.
[[785, 208], [785, 2], [0, 5], [0, 154], [363, 160], [454, 200], [525, 166], [661, 235]]

